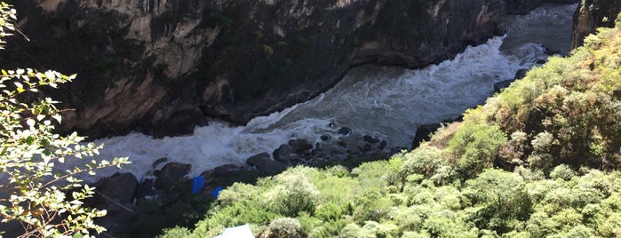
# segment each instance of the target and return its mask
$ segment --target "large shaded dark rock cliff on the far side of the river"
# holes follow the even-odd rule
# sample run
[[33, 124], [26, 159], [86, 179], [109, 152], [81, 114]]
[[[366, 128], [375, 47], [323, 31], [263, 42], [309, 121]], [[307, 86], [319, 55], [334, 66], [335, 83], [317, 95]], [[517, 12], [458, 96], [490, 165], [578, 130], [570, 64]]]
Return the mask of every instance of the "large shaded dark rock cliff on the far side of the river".
[[422, 67], [493, 36], [502, 0], [17, 1], [15, 66], [77, 73], [63, 130], [179, 135], [246, 123], [325, 91], [348, 67]]

